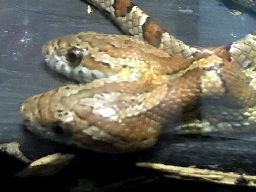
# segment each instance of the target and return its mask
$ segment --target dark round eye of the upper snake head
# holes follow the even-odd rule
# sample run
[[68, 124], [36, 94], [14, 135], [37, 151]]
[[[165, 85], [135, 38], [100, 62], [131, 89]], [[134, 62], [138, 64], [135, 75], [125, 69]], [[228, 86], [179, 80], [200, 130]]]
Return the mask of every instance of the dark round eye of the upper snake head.
[[83, 59], [83, 50], [78, 48], [70, 49], [66, 54], [66, 59], [69, 62], [70, 66], [78, 66]]

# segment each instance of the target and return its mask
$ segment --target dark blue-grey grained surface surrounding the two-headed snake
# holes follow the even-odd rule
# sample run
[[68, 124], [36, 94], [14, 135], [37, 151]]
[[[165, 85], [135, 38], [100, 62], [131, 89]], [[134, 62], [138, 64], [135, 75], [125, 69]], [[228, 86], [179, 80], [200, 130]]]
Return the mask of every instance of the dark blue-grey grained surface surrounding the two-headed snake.
[[[236, 7], [230, 1], [133, 2], [166, 31], [190, 45], [229, 45], [256, 28], [256, 14]], [[243, 14], [232, 15], [232, 8]], [[96, 8], [92, 9], [93, 12], [88, 14], [87, 4], [79, 0], [0, 1], [0, 143], [19, 142], [21, 150], [30, 159], [59, 151], [78, 153], [79, 157], [85, 157], [83, 161], [91, 167], [90, 170], [97, 163], [107, 163], [110, 167], [116, 164], [120, 168], [124, 162], [152, 161], [256, 174], [254, 133], [196, 137], [166, 134], [150, 150], [106, 155], [77, 151], [25, 131], [19, 116], [20, 104], [34, 94], [73, 83], [48, 69], [41, 56], [42, 45], [54, 37], [80, 31], [121, 34], [110, 20]], [[97, 179], [93, 180], [97, 182]]]

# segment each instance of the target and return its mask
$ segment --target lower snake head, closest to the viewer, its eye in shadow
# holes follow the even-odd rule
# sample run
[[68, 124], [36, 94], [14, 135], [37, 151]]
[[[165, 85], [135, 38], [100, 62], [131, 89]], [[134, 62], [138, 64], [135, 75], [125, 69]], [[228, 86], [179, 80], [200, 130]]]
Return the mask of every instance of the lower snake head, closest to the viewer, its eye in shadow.
[[148, 86], [103, 80], [64, 86], [28, 98], [20, 113], [27, 129], [42, 138], [107, 153], [142, 150], [156, 142], [160, 124], [142, 114], [158, 99], [138, 88], [157, 98], [167, 91]]

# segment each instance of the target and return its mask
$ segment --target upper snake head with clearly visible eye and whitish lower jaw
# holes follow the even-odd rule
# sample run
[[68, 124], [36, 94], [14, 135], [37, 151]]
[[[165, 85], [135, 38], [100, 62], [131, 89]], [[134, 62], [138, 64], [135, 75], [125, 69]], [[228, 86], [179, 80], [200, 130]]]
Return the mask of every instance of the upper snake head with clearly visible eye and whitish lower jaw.
[[51, 69], [82, 83], [116, 76], [131, 81], [140, 79], [143, 72], [138, 68], [147, 65], [138, 61], [136, 43], [144, 44], [130, 36], [81, 32], [50, 40], [42, 55]]

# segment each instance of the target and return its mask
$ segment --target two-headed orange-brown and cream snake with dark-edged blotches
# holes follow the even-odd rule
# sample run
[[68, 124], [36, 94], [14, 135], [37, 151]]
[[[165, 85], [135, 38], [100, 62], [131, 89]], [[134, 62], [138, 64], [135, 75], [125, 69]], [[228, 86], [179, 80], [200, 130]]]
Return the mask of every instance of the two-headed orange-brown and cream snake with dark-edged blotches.
[[[80, 84], [24, 101], [20, 112], [29, 131], [126, 153], [153, 146], [167, 125], [181, 133], [255, 128], [256, 31], [230, 46], [190, 46], [130, 0], [88, 2], [126, 35], [80, 32], [48, 41], [47, 65]], [[205, 99], [210, 118], [198, 119]]]

